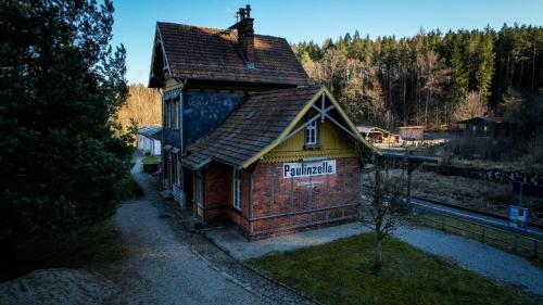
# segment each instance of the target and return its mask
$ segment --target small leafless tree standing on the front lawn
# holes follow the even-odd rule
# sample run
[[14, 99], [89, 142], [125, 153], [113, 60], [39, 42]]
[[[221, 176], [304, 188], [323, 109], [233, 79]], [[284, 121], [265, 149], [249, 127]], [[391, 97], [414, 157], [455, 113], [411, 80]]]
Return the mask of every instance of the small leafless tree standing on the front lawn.
[[[405, 175], [392, 175], [390, 161], [375, 161], [367, 175], [368, 188], [363, 191], [361, 220], [369, 225], [376, 234], [376, 262], [374, 270], [382, 268], [382, 242], [395, 229], [405, 225], [411, 215], [411, 206], [402, 199]], [[364, 189], [363, 189], [364, 190]], [[367, 195], [366, 195], [367, 194]], [[364, 200], [366, 199], [366, 200]]]

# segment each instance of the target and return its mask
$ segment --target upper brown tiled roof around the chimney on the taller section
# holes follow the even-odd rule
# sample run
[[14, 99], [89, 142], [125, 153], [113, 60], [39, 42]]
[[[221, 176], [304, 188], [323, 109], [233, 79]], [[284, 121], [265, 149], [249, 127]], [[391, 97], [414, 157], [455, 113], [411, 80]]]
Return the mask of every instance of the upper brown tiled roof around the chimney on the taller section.
[[255, 35], [254, 69], [247, 67], [237, 31], [157, 23], [173, 77], [278, 85], [313, 85], [285, 38]]

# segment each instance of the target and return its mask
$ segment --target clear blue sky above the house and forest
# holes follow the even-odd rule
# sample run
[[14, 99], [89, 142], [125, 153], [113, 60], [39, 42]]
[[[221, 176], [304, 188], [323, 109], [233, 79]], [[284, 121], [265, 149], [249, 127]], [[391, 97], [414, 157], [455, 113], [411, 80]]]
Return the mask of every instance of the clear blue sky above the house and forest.
[[473, 29], [504, 23], [543, 26], [543, 0], [113, 0], [114, 46], [127, 49], [127, 79], [147, 85], [155, 23], [227, 28], [251, 4], [255, 34], [289, 42], [361, 35], [408, 37], [420, 28]]

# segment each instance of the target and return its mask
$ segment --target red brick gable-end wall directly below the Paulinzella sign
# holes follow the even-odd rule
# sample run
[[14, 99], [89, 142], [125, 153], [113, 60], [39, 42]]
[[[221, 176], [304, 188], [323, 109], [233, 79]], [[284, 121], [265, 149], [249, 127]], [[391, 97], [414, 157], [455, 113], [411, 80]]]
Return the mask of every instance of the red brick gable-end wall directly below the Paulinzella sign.
[[[274, 234], [356, 215], [359, 165], [356, 157], [337, 158], [336, 174], [282, 178], [282, 163], [258, 164], [253, 174], [251, 236]], [[351, 206], [334, 207], [352, 204]], [[315, 211], [319, 209], [319, 211]], [[295, 215], [280, 216], [295, 213]]]

